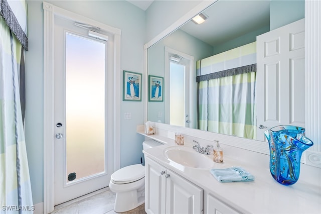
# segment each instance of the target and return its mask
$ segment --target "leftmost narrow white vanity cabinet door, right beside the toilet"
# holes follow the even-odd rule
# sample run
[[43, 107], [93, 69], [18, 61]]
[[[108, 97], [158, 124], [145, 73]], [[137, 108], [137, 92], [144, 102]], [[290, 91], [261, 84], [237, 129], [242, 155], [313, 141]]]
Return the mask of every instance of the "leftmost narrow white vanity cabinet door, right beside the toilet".
[[[163, 173], [164, 172], [164, 173]], [[163, 175], [162, 175], [163, 173]], [[145, 163], [145, 211], [165, 213], [166, 168], [146, 157]]]

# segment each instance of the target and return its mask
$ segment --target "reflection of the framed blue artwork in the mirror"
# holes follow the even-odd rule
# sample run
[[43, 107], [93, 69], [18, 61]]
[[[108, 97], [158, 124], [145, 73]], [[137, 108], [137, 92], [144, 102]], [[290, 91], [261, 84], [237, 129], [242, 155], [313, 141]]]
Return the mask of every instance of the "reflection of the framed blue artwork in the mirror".
[[148, 75], [148, 101], [162, 102], [164, 100], [164, 78]]

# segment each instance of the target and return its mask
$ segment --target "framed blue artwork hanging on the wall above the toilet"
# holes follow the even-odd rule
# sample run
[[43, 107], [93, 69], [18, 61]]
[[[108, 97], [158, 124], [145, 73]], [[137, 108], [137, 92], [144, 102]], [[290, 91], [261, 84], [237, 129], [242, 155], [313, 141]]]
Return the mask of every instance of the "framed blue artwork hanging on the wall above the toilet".
[[141, 101], [141, 73], [123, 71], [124, 101]]

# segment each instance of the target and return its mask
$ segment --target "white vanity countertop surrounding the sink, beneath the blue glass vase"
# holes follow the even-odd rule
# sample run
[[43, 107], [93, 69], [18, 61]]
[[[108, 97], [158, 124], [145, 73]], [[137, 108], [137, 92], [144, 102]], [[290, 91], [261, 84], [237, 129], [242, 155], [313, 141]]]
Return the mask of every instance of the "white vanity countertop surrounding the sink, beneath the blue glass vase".
[[[137, 131], [137, 133], [145, 135], [143, 132]], [[164, 145], [143, 151], [145, 157], [150, 157], [175, 171], [240, 212], [321, 213], [321, 169], [319, 168], [301, 164], [298, 181], [293, 185], [284, 186], [272, 178], [268, 155], [225, 145], [223, 146], [224, 163], [213, 162], [211, 168], [239, 166], [254, 175], [255, 180], [220, 183], [210, 173], [211, 168], [184, 167], [169, 161], [164, 155], [164, 149], [177, 146], [173, 139], [157, 135], [146, 137]], [[185, 142], [183, 147], [192, 146], [192, 142]], [[213, 159], [213, 154], [208, 155], [208, 158]]]

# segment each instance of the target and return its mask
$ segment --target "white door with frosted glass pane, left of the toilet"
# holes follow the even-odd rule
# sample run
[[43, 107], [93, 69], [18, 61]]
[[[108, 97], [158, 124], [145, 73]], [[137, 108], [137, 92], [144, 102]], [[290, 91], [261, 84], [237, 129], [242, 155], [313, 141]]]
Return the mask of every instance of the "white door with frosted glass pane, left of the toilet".
[[55, 205], [108, 186], [113, 172], [112, 36], [89, 30], [55, 18]]

